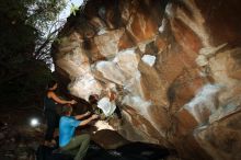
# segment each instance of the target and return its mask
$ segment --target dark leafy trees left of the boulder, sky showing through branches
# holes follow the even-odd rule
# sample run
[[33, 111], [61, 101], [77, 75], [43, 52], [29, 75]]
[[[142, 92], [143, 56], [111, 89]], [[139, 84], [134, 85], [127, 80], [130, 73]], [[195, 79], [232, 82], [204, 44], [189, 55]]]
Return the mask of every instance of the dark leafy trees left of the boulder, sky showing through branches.
[[65, 0], [0, 0], [1, 105], [19, 106], [43, 100], [45, 85], [53, 76], [45, 61], [37, 60], [35, 55], [38, 50], [43, 59], [49, 56], [46, 30], [65, 3]]

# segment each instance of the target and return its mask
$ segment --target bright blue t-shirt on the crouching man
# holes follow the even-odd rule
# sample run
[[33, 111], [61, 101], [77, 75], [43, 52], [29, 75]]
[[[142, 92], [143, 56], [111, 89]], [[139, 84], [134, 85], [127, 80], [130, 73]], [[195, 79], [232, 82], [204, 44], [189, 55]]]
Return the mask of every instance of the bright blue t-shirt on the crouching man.
[[78, 127], [80, 121], [77, 121], [73, 116], [62, 116], [59, 122], [59, 146], [64, 147], [69, 144], [70, 139], [74, 135], [76, 127]]

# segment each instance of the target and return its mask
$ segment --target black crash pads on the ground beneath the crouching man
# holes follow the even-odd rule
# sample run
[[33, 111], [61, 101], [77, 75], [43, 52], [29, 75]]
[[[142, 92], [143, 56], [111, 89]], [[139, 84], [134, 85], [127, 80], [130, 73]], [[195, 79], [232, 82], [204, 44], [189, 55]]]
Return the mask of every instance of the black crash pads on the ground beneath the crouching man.
[[[37, 160], [73, 160], [73, 157], [62, 153], [53, 153], [55, 148], [39, 146]], [[131, 142], [115, 150], [106, 150], [91, 141], [84, 160], [160, 160], [170, 156], [170, 151], [159, 146]]]

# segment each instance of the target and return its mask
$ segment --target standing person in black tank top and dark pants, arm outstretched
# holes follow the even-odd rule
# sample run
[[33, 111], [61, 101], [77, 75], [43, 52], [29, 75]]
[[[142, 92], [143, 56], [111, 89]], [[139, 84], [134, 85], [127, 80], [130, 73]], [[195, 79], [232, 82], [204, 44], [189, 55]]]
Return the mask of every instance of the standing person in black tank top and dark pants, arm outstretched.
[[55, 128], [58, 127], [59, 124], [59, 114], [57, 113], [57, 104], [76, 104], [74, 100], [67, 101], [60, 99], [56, 93], [56, 89], [58, 88], [58, 83], [56, 81], [50, 81], [47, 85], [47, 92], [44, 98], [44, 114], [47, 121], [47, 129], [45, 134], [45, 146], [53, 147], [56, 145], [54, 140]]

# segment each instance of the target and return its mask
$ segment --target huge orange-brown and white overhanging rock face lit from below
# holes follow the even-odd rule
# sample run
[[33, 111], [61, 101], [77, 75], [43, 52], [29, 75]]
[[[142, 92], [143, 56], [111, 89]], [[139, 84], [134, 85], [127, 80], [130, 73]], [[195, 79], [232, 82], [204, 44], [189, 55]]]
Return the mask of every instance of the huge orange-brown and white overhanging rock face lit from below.
[[241, 159], [241, 1], [89, 0], [53, 46], [70, 92], [118, 94], [134, 141]]

